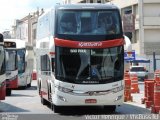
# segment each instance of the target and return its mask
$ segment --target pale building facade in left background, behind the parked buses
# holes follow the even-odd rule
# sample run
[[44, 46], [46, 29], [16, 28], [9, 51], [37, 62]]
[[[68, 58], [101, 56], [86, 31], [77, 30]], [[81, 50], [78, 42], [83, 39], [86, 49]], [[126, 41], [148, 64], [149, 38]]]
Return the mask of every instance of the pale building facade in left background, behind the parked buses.
[[24, 40], [29, 45], [35, 46], [37, 20], [43, 13], [44, 11], [41, 9], [40, 11], [29, 13], [20, 20], [15, 20], [15, 25], [12, 26], [14, 38]]

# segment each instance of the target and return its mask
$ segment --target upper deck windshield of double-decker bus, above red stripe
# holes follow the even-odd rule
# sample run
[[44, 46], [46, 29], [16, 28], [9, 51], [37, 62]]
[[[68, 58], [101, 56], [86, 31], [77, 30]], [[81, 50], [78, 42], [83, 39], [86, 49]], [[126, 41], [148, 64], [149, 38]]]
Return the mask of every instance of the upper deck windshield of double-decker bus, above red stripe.
[[117, 10], [59, 10], [57, 34], [60, 37], [120, 35], [122, 31], [120, 22]]

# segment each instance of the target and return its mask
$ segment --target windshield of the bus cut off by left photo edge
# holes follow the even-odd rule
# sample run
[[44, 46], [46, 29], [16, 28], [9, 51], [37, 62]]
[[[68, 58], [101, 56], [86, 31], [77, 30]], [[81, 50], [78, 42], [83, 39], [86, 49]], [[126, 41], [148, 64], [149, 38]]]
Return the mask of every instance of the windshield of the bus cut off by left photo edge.
[[4, 47], [0, 45], [0, 75], [5, 73]]

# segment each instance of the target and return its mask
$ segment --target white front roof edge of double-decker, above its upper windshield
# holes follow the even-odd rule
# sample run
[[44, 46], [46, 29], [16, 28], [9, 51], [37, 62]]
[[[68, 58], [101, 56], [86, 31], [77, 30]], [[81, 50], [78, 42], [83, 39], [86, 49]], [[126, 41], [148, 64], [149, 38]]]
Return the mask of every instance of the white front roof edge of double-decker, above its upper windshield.
[[56, 5], [56, 9], [118, 9], [114, 4], [102, 4], [102, 3], [79, 3], [79, 4], [64, 4]]

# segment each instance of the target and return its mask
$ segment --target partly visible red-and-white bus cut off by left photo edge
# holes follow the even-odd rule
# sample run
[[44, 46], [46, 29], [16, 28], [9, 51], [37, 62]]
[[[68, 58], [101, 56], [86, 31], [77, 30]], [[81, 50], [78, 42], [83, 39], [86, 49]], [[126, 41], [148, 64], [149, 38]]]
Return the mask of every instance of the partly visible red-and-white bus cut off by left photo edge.
[[5, 50], [3, 35], [0, 34], [0, 100], [6, 96]]

